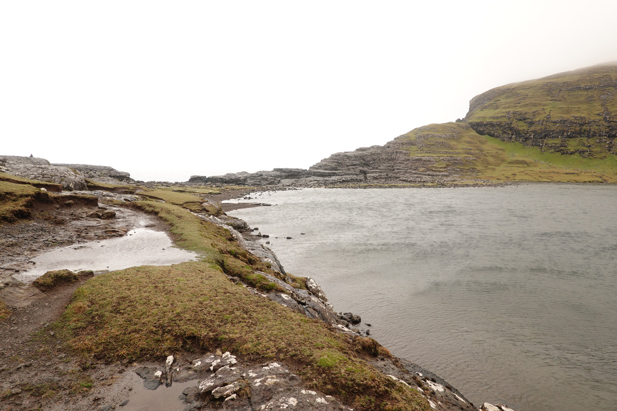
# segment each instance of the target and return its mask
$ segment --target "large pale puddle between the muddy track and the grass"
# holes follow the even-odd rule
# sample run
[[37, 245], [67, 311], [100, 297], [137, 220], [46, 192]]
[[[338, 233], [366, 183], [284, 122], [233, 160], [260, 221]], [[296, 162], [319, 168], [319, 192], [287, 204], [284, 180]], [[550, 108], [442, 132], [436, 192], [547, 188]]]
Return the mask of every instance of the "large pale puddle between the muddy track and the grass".
[[114, 271], [135, 266], [169, 266], [193, 259], [197, 259], [196, 253], [175, 248], [165, 232], [140, 227], [124, 237], [78, 243], [39, 254], [31, 259], [36, 263], [32, 269], [13, 277], [32, 282], [52, 270]]

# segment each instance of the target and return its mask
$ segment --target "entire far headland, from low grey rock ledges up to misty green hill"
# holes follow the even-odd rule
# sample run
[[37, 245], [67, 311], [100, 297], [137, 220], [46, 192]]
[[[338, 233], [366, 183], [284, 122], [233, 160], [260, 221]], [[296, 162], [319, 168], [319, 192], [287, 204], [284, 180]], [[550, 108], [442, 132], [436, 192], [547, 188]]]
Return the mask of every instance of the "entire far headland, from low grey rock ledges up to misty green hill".
[[508, 84], [474, 97], [463, 120], [334, 153], [308, 170], [193, 176], [196, 183], [457, 186], [617, 182], [617, 63]]

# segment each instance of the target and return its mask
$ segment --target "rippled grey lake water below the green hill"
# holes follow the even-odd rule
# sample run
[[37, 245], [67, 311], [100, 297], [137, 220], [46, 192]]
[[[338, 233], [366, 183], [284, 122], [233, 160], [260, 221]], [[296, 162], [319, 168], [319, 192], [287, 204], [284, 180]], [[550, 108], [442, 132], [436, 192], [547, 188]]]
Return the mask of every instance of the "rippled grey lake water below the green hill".
[[269, 234], [286, 271], [315, 278], [337, 311], [362, 315], [392, 354], [474, 404], [617, 410], [617, 186], [303, 189], [257, 201], [276, 206], [229, 214]]

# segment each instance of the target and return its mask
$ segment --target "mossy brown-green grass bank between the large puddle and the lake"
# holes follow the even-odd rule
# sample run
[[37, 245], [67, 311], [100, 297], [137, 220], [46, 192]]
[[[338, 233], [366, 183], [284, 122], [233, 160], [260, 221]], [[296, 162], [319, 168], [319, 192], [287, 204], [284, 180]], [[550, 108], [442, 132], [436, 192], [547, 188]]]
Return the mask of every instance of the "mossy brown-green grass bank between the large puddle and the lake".
[[363, 359], [389, 355], [374, 340], [337, 333], [230, 282], [223, 271], [232, 260], [243, 264], [247, 274], [267, 267], [242, 254], [227, 230], [179, 206], [152, 201], [133, 206], [158, 214], [170, 224], [177, 245], [204, 258], [88, 280], [57, 325], [82, 356], [106, 362], [162, 360], [180, 351], [220, 348], [248, 360], [284, 361], [310, 387], [359, 410], [430, 409], [417, 391], [376, 372]]

